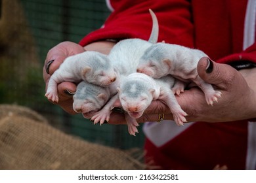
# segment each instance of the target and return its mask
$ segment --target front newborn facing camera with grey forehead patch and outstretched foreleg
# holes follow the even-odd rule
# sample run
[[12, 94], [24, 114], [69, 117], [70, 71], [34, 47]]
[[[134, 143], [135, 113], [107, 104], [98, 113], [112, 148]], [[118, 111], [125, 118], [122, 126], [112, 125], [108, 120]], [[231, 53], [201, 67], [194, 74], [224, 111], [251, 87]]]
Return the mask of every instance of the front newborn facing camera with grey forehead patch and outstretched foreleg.
[[117, 88], [119, 100], [123, 109], [134, 119], [142, 116], [153, 100], [161, 100], [170, 108], [176, 124], [183, 125], [183, 122], [186, 122], [184, 116], [187, 114], [181, 109], [171, 91], [174, 82], [175, 78], [171, 75], [154, 79], [143, 73], [132, 73], [121, 82], [120, 88]]

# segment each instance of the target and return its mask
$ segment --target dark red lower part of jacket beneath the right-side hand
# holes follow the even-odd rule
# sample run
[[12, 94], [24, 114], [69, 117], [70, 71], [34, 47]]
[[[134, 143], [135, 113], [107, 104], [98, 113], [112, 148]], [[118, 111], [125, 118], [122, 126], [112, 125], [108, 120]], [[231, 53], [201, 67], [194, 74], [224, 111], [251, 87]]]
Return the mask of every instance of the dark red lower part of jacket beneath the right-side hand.
[[197, 122], [159, 148], [146, 139], [145, 149], [159, 169], [245, 169], [247, 122]]

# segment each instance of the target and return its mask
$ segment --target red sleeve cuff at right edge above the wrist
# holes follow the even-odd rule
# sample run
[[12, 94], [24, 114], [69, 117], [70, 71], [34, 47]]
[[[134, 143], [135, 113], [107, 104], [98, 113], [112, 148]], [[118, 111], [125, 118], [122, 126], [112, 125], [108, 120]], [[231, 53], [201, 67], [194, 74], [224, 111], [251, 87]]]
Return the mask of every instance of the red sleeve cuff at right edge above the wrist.
[[244, 50], [243, 52], [231, 54], [230, 56], [226, 56], [217, 60], [218, 63], [231, 63], [232, 61], [252, 61], [256, 63], [256, 43], [252, 44]]

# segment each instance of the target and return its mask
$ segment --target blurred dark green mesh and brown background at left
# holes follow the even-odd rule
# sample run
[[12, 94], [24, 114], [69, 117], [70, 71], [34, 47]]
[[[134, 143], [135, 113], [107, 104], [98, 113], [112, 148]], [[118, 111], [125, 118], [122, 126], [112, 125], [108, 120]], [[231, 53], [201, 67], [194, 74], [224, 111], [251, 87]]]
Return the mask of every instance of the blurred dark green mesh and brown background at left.
[[62, 41], [79, 42], [110, 14], [105, 0], [0, 0], [0, 104], [32, 108], [50, 124], [85, 141], [127, 150], [142, 148], [126, 125], [93, 125], [47, 101], [43, 63]]

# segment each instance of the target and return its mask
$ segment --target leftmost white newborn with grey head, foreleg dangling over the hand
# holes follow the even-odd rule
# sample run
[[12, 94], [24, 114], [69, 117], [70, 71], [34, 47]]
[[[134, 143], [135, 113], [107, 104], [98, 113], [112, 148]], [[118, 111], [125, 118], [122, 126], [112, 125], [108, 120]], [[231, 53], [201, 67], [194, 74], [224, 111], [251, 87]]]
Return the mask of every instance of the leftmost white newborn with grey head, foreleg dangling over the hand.
[[49, 80], [45, 96], [58, 102], [57, 85], [60, 82], [87, 82], [98, 86], [109, 86], [116, 80], [116, 72], [110, 59], [99, 52], [87, 51], [64, 60]]

